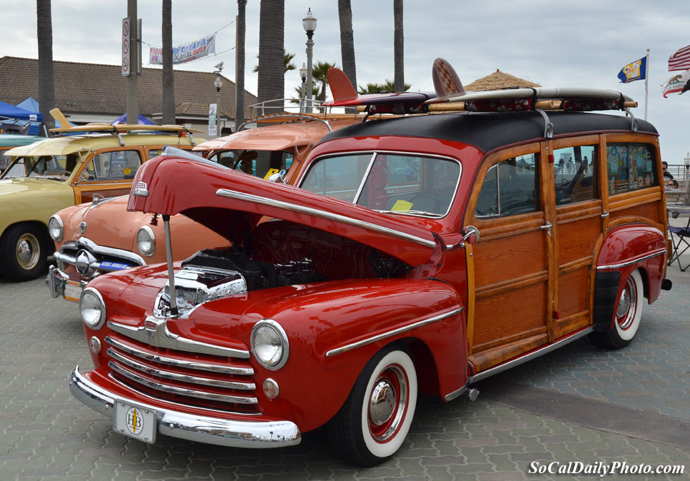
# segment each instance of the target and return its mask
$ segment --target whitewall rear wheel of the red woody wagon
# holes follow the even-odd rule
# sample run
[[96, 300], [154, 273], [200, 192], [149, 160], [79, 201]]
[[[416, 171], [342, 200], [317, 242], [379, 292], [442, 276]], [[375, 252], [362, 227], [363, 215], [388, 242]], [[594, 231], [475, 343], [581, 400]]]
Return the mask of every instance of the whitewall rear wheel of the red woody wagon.
[[642, 276], [639, 270], [633, 270], [618, 299], [612, 330], [607, 333], [592, 333], [592, 342], [601, 348], [611, 349], [620, 349], [629, 345], [639, 329], [643, 303]]

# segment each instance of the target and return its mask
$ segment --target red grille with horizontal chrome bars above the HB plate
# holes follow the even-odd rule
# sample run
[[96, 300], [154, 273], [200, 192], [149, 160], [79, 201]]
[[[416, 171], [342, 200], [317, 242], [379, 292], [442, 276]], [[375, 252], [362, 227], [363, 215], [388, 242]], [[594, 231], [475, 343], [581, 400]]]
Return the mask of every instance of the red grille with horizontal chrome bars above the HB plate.
[[248, 361], [156, 348], [106, 336], [113, 378], [161, 400], [255, 414], [254, 370]]

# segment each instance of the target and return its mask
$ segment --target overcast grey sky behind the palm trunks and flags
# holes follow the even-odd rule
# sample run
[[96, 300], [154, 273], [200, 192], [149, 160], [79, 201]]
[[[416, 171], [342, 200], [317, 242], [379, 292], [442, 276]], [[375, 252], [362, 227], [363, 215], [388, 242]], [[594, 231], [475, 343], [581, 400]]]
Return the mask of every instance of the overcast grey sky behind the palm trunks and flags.
[[[259, 0], [247, 5], [245, 86], [256, 93]], [[318, 19], [314, 62], [341, 66], [338, 2], [286, 0], [285, 48], [298, 68], [306, 61], [302, 19], [311, 7]], [[0, 0], [3, 42], [0, 56], [38, 57], [34, 1]], [[53, 0], [53, 57], [60, 61], [120, 64], [121, 21], [126, 0]], [[173, 45], [218, 31], [217, 54], [175, 66], [213, 71], [223, 61], [223, 76], [235, 79], [233, 0], [173, 0]], [[148, 46], [161, 46], [161, 1], [138, 0], [143, 19], [143, 57]], [[391, 0], [352, 0], [357, 82], [393, 79]], [[228, 26], [228, 24], [230, 24]], [[661, 155], [683, 163], [690, 151], [690, 92], [661, 96], [671, 75], [667, 60], [690, 45], [690, 1], [670, 0], [405, 0], [405, 82], [412, 91], [432, 91], [432, 62], [450, 61], [467, 85], [496, 69], [542, 86], [613, 88], [639, 102], [644, 118], [644, 81], [620, 83], [617, 74], [650, 49], [647, 120], [661, 134]], [[685, 32], [685, 33], [684, 33]], [[146, 64], [144, 66], [147, 66]], [[285, 76], [285, 95], [295, 95], [298, 71]], [[214, 87], [209, 85], [210, 89]], [[328, 92], [330, 94], [330, 92]]]

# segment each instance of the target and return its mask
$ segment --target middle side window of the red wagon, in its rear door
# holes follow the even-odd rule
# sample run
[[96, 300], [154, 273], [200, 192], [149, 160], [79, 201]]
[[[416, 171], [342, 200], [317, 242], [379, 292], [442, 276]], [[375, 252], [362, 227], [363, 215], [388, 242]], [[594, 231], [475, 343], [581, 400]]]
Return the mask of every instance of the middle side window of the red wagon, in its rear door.
[[575, 146], [554, 151], [556, 205], [591, 201], [599, 196], [597, 146]]

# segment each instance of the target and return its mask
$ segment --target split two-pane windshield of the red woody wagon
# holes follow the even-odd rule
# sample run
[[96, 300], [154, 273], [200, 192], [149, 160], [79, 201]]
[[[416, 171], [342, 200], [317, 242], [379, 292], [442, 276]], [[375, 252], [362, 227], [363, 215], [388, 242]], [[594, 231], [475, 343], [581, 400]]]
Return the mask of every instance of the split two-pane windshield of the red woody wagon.
[[460, 181], [460, 163], [449, 158], [362, 153], [321, 158], [301, 187], [392, 214], [442, 217]]

